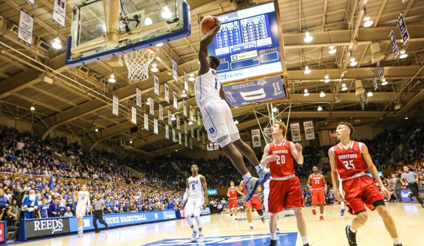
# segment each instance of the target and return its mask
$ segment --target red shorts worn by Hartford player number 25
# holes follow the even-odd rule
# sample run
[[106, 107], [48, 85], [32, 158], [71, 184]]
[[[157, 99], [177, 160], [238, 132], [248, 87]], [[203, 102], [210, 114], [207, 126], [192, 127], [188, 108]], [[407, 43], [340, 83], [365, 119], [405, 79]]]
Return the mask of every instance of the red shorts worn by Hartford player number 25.
[[368, 175], [345, 180], [343, 181], [342, 187], [344, 200], [349, 207], [349, 213], [352, 215], [365, 211], [365, 205], [369, 209], [374, 210], [375, 207], [373, 203], [384, 200], [374, 180]]

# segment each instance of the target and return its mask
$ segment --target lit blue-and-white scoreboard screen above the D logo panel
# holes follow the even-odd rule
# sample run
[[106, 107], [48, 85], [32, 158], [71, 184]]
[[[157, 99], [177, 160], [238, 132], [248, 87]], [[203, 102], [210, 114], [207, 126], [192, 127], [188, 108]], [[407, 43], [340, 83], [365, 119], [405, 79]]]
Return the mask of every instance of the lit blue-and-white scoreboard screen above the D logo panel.
[[209, 45], [208, 54], [221, 61], [217, 74], [222, 83], [283, 72], [274, 3], [217, 18], [221, 29]]

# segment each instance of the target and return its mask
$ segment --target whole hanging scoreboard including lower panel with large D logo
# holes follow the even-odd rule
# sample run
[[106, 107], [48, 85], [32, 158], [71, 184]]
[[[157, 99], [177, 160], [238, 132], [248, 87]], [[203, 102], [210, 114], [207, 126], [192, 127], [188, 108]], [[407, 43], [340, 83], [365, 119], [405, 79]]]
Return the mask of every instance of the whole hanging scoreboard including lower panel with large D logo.
[[[208, 47], [232, 107], [290, 99], [278, 3], [226, 13]], [[237, 99], [238, 98], [238, 99]]]

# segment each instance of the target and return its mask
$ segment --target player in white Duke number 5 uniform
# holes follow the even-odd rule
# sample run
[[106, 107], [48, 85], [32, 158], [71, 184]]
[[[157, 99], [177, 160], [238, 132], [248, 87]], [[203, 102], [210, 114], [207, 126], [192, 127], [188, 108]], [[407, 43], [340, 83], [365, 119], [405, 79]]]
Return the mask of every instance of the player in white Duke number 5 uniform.
[[191, 165], [192, 176], [186, 180], [186, 193], [184, 193], [182, 205], [184, 205], [188, 198], [186, 207], [184, 208], [184, 214], [186, 217], [187, 224], [191, 227], [193, 234], [191, 241], [196, 241], [197, 230], [194, 228], [191, 216], [194, 215], [196, 220], [197, 228], [199, 228], [199, 240], [197, 242], [203, 242], [204, 236], [202, 231], [202, 224], [200, 222], [200, 214], [202, 209], [206, 208], [207, 203], [207, 185], [206, 179], [198, 173], [199, 167], [196, 164]]

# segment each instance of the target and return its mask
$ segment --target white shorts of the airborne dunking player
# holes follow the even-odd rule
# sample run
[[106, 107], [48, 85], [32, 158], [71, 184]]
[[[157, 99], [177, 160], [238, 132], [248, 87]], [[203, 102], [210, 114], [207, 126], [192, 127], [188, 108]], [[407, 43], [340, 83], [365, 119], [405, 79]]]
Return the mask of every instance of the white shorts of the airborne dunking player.
[[230, 107], [224, 100], [206, 102], [201, 108], [203, 124], [210, 142], [221, 148], [240, 139]]

